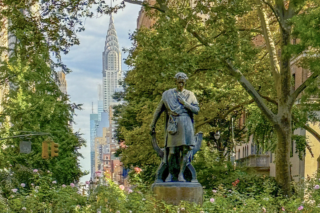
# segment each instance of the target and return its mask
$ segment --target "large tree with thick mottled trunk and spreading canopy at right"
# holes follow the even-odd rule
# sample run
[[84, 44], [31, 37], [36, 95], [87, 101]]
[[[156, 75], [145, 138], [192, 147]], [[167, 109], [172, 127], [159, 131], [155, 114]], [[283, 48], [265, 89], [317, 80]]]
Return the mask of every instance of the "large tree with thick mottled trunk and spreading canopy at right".
[[[315, 56], [319, 49], [319, 29], [316, 27], [319, 2], [194, 1], [189, 5], [187, 2], [157, 0], [153, 6], [140, 1], [126, 2], [145, 6], [152, 16], [159, 16], [158, 23], [162, 22], [161, 25], [172, 24], [174, 30], [170, 31], [168, 40], [179, 38], [174, 41], [175, 46], [172, 45], [177, 51], [183, 42], [188, 42], [190, 51], [198, 51], [189, 60], [205, 63], [195, 63], [196, 66], [190, 70], [199, 70], [198, 74], [205, 75], [217, 73], [218, 70], [220, 75], [236, 80], [236, 85], [241, 85], [251, 96], [276, 133], [276, 180], [284, 194], [290, 196], [292, 109], [303, 91], [301, 101], [305, 102], [300, 103], [304, 109], [297, 110], [299, 116], [306, 118], [304, 121], [316, 119], [308, 115], [312, 114], [310, 109], [319, 108], [318, 103], [307, 101], [307, 97], [318, 92], [320, 60]], [[261, 46], [252, 42], [252, 37], [257, 35], [264, 38]], [[292, 38], [300, 42], [293, 44]], [[147, 53], [144, 52], [146, 57]], [[306, 57], [301, 66], [308, 68], [312, 74], [295, 89], [292, 87], [290, 62], [302, 53], [306, 53]], [[169, 57], [172, 57], [171, 53], [167, 60]], [[152, 59], [158, 60], [157, 57]], [[276, 100], [276, 109], [272, 109], [271, 103], [263, 96]]]

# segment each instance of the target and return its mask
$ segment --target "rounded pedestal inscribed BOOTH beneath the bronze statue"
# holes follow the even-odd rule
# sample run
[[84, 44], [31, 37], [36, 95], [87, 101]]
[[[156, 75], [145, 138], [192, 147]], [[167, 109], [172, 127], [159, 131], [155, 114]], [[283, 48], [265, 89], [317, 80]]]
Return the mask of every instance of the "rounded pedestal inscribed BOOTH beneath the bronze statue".
[[163, 182], [151, 185], [156, 200], [163, 200], [173, 205], [180, 201], [189, 201], [202, 205], [203, 189], [200, 183], [192, 182]]

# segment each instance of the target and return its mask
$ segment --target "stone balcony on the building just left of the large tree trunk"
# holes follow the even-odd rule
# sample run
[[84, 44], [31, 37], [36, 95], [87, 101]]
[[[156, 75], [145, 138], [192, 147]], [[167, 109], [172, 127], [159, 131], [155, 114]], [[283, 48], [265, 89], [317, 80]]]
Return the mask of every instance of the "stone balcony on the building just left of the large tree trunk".
[[237, 166], [250, 167], [260, 174], [269, 175], [270, 156], [269, 155], [249, 155], [236, 160]]

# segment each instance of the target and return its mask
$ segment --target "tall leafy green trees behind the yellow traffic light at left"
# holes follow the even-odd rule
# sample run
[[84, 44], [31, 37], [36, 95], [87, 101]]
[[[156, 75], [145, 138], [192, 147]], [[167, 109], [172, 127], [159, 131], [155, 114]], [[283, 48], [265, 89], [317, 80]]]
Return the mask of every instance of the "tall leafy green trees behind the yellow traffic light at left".
[[[84, 174], [77, 158], [82, 157], [78, 149], [85, 141], [69, 126], [81, 104], [69, 103], [69, 97], [59, 90], [55, 69], [70, 72], [60, 52], [67, 53], [70, 46], [79, 43], [76, 32], [83, 28], [75, 26], [81, 25], [81, 17], [90, 16], [86, 4], [1, 1], [1, 41], [8, 44], [0, 48], [1, 138], [28, 132], [46, 132], [50, 137], [31, 137], [30, 154], [19, 153], [19, 138], [1, 141], [0, 169], [18, 171], [21, 165], [49, 169], [64, 183], [77, 181]], [[59, 143], [59, 157], [41, 158], [44, 140]]]

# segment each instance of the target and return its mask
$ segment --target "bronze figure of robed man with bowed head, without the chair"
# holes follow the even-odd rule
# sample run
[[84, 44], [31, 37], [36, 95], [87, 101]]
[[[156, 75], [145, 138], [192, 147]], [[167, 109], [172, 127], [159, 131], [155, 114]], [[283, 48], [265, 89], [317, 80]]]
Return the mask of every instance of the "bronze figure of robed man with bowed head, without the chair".
[[171, 182], [172, 175], [177, 173], [174, 164], [180, 164], [178, 181], [186, 182], [183, 173], [188, 163], [188, 154], [195, 146], [193, 114], [198, 114], [199, 105], [193, 92], [184, 89], [188, 77], [183, 72], [175, 76], [176, 88], [164, 91], [151, 123], [151, 131], [155, 131], [158, 118], [167, 111], [164, 129], [164, 163], [168, 164], [169, 175], [165, 182]]

